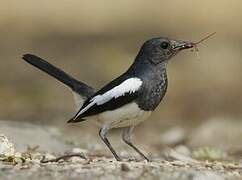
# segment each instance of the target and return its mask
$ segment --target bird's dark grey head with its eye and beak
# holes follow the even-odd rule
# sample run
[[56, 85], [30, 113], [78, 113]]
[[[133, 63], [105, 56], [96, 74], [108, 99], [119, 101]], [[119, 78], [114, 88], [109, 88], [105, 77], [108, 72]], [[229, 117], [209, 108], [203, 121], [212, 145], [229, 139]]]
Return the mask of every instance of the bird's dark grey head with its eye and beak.
[[[140, 49], [139, 55], [145, 57], [153, 64], [167, 62], [178, 52], [190, 49], [195, 43], [189, 41], [173, 40], [168, 38], [152, 38], [147, 40]], [[142, 59], [142, 58], [141, 58]]]

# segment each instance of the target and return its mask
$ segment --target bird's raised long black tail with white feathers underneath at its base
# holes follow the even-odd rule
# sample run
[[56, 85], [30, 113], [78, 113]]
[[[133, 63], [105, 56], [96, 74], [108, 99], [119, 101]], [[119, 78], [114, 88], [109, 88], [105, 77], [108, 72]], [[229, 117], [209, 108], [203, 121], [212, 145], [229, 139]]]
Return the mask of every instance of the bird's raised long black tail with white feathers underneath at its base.
[[36, 55], [25, 54], [23, 55], [23, 59], [29, 64], [37, 67], [38, 69], [46, 72], [47, 74], [67, 85], [73, 92], [77, 110], [81, 108], [85, 100], [95, 94], [95, 90], [92, 87], [76, 80], [69, 74], [62, 71], [60, 68], [55, 67], [54, 65]]

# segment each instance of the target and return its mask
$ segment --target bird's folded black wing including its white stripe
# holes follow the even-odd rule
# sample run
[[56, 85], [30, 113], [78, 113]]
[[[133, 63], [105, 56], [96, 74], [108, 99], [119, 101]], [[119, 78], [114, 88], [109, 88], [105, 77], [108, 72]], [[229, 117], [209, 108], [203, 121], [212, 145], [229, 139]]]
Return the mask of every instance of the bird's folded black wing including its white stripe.
[[137, 98], [142, 80], [137, 77], [117, 78], [89, 98], [68, 122], [83, 121], [82, 118], [104, 111], [114, 110]]

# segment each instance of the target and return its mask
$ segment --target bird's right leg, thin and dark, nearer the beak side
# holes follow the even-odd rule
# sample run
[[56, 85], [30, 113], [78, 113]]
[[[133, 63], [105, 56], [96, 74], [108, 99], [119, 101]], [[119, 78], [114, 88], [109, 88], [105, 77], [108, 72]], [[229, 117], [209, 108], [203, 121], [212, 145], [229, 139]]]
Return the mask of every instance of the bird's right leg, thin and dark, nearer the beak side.
[[139, 153], [143, 158], [145, 158], [147, 161], [150, 161], [149, 158], [147, 158], [137, 147], [135, 147], [133, 145], [133, 143], [131, 142], [131, 134], [133, 132], [134, 126], [131, 127], [127, 127], [123, 129], [123, 133], [122, 133], [122, 139], [123, 141], [128, 144], [129, 146], [131, 146], [137, 153]]

